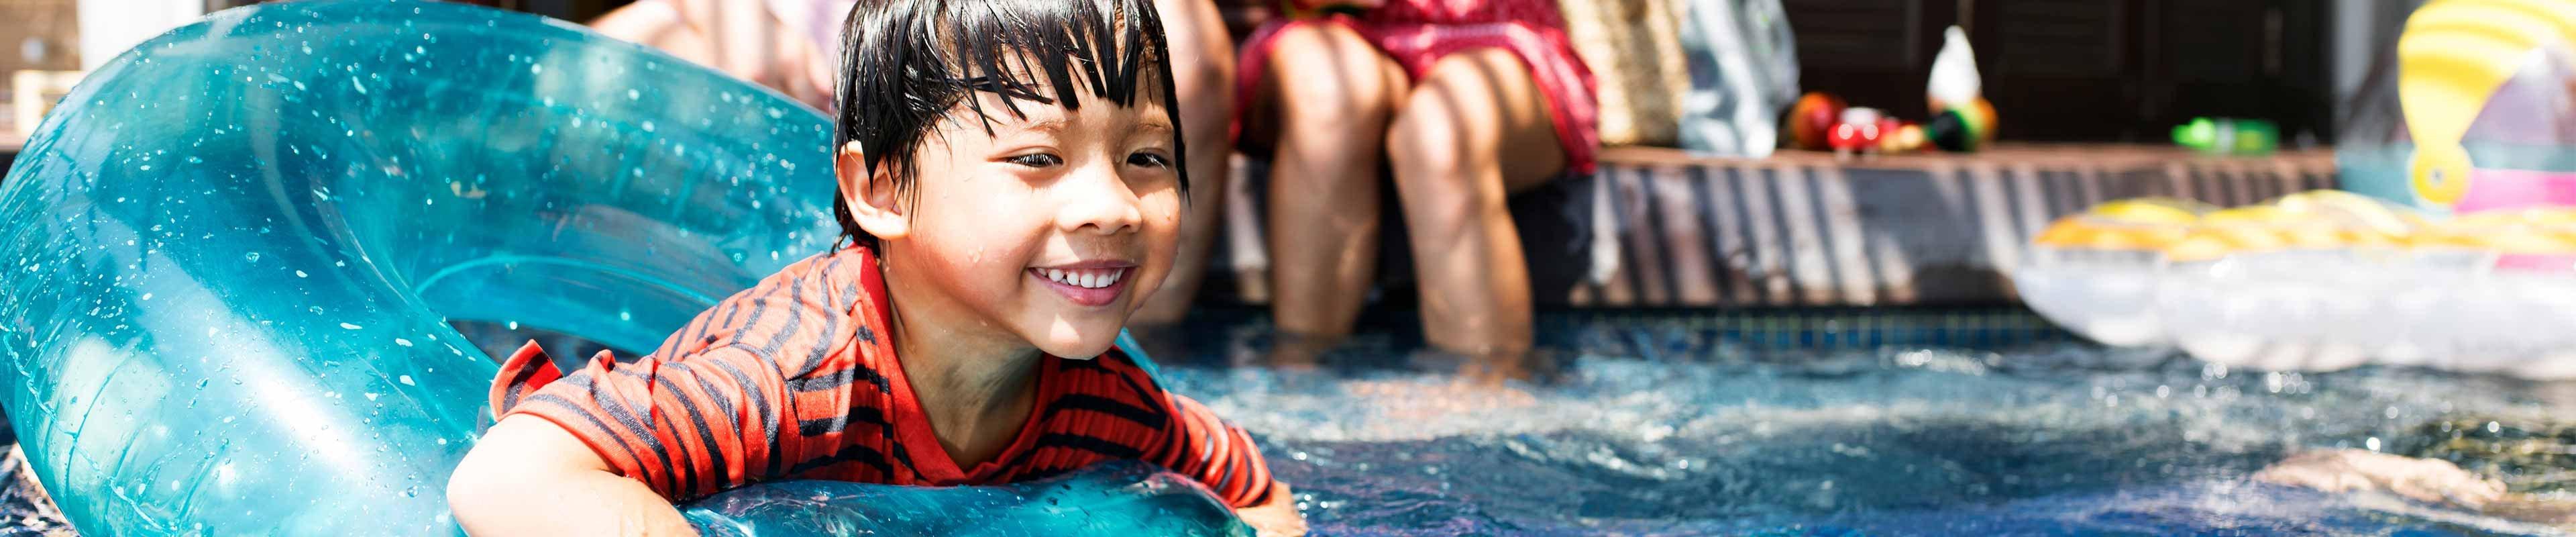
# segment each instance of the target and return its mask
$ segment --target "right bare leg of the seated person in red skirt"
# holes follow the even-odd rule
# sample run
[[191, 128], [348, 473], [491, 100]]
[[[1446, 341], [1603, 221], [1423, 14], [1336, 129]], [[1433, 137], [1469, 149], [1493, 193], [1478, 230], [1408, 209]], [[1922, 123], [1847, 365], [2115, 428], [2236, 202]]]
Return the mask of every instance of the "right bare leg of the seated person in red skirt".
[[1386, 155], [1430, 343], [1471, 356], [1528, 354], [1530, 271], [1504, 196], [1566, 168], [1530, 70], [1504, 49], [1443, 57], [1396, 111]]

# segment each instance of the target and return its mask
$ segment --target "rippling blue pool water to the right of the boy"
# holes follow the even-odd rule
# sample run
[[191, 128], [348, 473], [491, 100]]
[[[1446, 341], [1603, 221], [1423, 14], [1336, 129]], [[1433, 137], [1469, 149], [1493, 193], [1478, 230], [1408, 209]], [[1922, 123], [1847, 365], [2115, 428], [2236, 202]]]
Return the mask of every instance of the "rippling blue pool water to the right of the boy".
[[[2429, 452], [2476, 441], [2481, 421], [2537, 431], [2576, 408], [2576, 385], [2244, 372], [2074, 343], [2027, 312], [1950, 346], [1819, 349], [1739, 330], [1754, 320], [1543, 315], [1546, 359], [1499, 372], [1422, 351], [1406, 312], [1278, 364], [1257, 312], [1211, 310], [1157, 359], [1172, 390], [1255, 431], [1316, 534], [2555, 532], [2246, 475], [2306, 447]], [[2543, 493], [2566, 472], [2463, 465]], [[28, 488], [0, 493], [0, 534], [59, 532]]]

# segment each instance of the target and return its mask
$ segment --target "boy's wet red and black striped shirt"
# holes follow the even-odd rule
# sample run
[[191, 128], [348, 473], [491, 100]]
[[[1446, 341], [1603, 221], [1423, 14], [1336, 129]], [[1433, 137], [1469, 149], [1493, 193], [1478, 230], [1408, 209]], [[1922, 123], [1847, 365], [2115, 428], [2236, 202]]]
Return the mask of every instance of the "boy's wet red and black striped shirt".
[[799, 261], [631, 364], [562, 374], [531, 341], [492, 382], [495, 416], [546, 418], [621, 475], [685, 501], [762, 480], [989, 485], [1144, 460], [1257, 506], [1273, 480], [1242, 429], [1164, 392], [1121, 351], [1041, 359], [1038, 398], [992, 462], [958, 467], [894, 356], [876, 256]]

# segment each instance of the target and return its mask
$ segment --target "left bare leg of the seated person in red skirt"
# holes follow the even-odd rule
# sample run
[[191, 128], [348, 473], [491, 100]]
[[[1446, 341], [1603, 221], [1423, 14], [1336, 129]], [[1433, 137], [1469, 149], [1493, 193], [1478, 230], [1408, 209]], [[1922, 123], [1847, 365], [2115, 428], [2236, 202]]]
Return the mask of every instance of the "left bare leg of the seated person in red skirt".
[[[1350, 333], [1378, 253], [1378, 155], [1404, 96], [1404, 67], [1350, 28], [1278, 34], [1262, 83], [1270, 160], [1270, 310], [1296, 341]], [[1275, 132], [1270, 132], [1275, 129]]]

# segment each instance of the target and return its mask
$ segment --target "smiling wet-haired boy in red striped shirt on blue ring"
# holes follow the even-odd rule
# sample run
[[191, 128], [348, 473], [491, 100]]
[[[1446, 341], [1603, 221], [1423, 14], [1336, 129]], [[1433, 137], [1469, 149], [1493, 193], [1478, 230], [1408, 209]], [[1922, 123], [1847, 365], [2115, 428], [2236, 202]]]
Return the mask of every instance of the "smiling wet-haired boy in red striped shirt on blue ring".
[[979, 485], [1144, 460], [1265, 534], [1303, 532], [1242, 429], [1113, 351], [1172, 266], [1185, 188], [1154, 8], [863, 3], [848, 21], [850, 248], [634, 364], [556, 374], [518, 351], [500, 423], [451, 478], [456, 522], [688, 534], [672, 501], [760, 480]]

